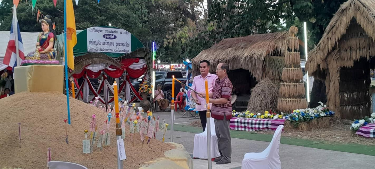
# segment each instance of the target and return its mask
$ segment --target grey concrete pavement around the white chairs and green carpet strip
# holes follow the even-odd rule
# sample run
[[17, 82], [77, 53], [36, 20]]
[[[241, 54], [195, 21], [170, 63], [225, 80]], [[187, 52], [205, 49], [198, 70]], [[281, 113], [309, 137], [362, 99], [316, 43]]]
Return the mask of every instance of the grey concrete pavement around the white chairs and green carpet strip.
[[[170, 112], [155, 112], [161, 119], [170, 124]], [[176, 117], [182, 113], [177, 113]], [[195, 120], [199, 120], [199, 117]], [[193, 120], [189, 118], [176, 119], [174, 124], [189, 125]], [[162, 122], [162, 121], [160, 121]], [[244, 131], [246, 133], [246, 131]], [[185, 146], [186, 151], [193, 153], [195, 133], [174, 131], [174, 142]], [[162, 134], [157, 134], [157, 139], [162, 139]], [[170, 140], [170, 131], [165, 135], [165, 141]], [[247, 152], [261, 152], [269, 142], [232, 138], [232, 163], [216, 165], [214, 169], [239, 169], [243, 156]], [[330, 151], [324, 149], [308, 148], [294, 145], [280, 145], [280, 160], [283, 169], [373, 169], [375, 157], [371, 155], [354, 154], [348, 152]], [[195, 169], [207, 169], [207, 160], [194, 159]]]

